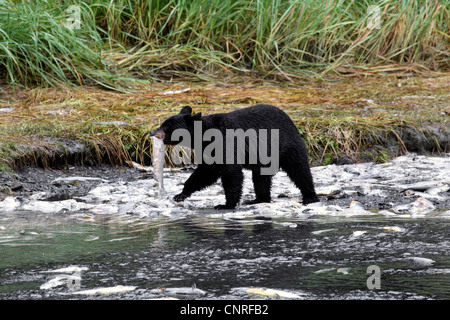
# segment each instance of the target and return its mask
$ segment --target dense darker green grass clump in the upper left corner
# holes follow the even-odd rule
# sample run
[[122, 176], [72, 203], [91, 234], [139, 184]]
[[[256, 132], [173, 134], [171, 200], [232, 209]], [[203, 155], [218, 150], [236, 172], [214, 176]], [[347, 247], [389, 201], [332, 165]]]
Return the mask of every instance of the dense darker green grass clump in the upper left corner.
[[11, 84], [114, 86], [102, 58], [94, 16], [81, 4], [80, 29], [68, 27], [68, 4], [0, 1], [0, 76]]

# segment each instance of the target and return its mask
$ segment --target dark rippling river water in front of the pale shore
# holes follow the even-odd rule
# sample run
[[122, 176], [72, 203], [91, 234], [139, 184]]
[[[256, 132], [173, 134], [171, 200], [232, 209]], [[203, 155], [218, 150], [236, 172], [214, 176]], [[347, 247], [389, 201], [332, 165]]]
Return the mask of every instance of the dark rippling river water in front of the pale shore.
[[[2, 299], [72, 297], [64, 283], [40, 287], [56, 277], [47, 271], [73, 265], [83, 268], [78, 289], [136, 288], [108, 299], [161, 297], [161, 287], [186, 297], [193, 285], [200, 291], [192, 292], [206, 293], [190, 297], [196, 299], [270, 297], [255, 288], [305, 299], [446, 299], [450, 292], [448, 219], [10, 213], [0, 225]], [[412, 257], [433, 262], [413, 267], [409, 261], [427, 260]], [[379, 290], [367, 288], [371, 265], [381, 269]]]

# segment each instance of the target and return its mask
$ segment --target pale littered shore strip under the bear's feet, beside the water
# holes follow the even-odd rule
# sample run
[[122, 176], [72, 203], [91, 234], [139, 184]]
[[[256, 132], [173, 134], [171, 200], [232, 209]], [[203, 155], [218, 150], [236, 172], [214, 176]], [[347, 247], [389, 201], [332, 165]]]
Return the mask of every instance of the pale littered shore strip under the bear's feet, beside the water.
[[[166, 195], [159, 196], [151, 172], [125, 167], [26, 168], [2, 173], [2, 211], [127, 214], [136, 217], [364, 216], [421, 217], [450, 214], [450, 156], [409, 154], [384, 164], [359, 163], [313, 167], [320, 203], [303, 205], [299, 190], [284, 172], [273, 180], [272, 203], [215, 211], [223, 203], [218, 183], [183, 203], [178, 194], [192, 169], [165, 169]], [[251, 173], [245, 171], [243, 199], [254, 197]]]

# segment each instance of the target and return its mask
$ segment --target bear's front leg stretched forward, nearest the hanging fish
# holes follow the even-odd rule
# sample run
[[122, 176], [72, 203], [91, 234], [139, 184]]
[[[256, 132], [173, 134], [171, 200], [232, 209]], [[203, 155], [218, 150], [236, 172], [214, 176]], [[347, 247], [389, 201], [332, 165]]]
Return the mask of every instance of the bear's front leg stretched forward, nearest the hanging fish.
[[184, 183], [183, 191], [173, 197], [176, 202], [181, 202], [190, 197], [196, 191], [200, 191], [219, 179], [219, 170], [212, 165], [201, 164], [194, 170]]

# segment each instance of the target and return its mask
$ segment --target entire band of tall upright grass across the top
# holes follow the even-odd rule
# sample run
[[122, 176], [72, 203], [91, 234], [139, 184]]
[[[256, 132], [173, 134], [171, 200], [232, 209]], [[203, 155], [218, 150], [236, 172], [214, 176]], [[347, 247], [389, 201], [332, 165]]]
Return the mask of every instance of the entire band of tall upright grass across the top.
[[[12, 3], [0, 2], [0, 72], [12, 83], [110, 85], [113, 70], [146, 79], [223, 72], [292, 79], [341, 67], [450, 66], [450, 0]], [[82, 28], [67, 30], [65, 10], [80, 3]], [[379, 28], [370, 28], [370, 5], [378, 6]]]

